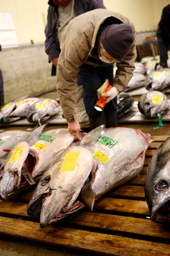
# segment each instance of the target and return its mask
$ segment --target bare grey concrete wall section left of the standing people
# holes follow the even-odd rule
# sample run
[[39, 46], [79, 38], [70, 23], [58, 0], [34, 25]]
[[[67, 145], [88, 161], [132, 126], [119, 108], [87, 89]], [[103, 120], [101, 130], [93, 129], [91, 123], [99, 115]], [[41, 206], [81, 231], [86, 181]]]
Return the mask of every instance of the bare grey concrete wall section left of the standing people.
[[2, 49], [0, 68], [3, 74], [4, 103], [56, 88], [44, 43]]

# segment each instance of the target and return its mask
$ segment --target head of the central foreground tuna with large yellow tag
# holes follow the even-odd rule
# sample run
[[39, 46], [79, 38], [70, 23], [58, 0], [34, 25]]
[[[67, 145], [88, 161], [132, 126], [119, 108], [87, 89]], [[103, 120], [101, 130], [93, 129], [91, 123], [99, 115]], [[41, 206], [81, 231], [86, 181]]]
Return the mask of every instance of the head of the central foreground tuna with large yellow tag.
[[41, 227], [56, 222], [73, 205], [91, 173], [93, 161], [92, 152], [86, 148], [66, 149], [43, 174], [27, 214], [40, 217]]

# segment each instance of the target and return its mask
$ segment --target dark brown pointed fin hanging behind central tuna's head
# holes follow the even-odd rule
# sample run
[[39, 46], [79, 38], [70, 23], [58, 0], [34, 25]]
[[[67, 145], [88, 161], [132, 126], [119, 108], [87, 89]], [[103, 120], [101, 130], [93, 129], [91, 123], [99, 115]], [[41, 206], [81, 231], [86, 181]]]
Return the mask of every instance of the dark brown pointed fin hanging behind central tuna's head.
[[82, 187], [78, 198], [79, 200], [88, 207], [88, 209], [92, 212], [93, 206], [95, 203], [95, 191], [91, 188], [89, 178], [84, 183], [84, 186]]

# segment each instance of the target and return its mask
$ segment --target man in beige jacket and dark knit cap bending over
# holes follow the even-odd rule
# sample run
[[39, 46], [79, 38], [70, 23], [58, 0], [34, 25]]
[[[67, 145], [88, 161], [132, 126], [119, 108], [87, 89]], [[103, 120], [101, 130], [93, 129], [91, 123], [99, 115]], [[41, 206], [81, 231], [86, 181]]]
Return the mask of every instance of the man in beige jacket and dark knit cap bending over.
[[[71, 20], [62, 33], [61, 52], [57, 63], [57, 91], [68, 122], [68, 131], [78, 137], [75, 84], [83, 85], [82, 97], [91, 129], [104, 124], [117, 126], [117, 94], [130, 81], [137, 57], [135, 28], [124, 15], [107, 9], [96, 9]], [[113, 79], [113, 63], [117, 64]], [[94, 108], [97, 89], [109, 80], [112, 88], [105, 95], [103, 111]]]

